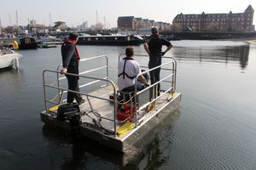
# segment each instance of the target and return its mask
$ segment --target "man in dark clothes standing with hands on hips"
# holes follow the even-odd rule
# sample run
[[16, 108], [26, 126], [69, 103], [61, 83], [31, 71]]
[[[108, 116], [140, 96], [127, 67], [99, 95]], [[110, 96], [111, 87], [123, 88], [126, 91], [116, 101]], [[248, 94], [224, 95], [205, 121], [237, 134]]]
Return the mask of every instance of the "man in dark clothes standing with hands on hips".
[[[151, 28], [152, 35], [146, 39], [144, 42], [144, 48], [149, 55], [148, 68], [152, 69], [156, 66], [161, 65], [162, 56], [166, 54], [172, 48], [172, 43], [166, 40], [164, 37], [160, 37], [159, 30], [157, 27], [153, 26]], [[162, 46], [166, 45], [166, 50], [162, 52]], [[150, 82], [154, 84], [155, 82], [160, 81], [160, 68], [155, 69], [154, 71], [149, 72]], [[154, 88], [155, 89], [155, 88]], [[157, 93], [157, 94], [156, 94]], [[151, 90], [150, 98], [154, 99], [155, 97], [160, 95], [160, 83], [157, 85], [157, 90], [153, 92]], [[154, 102], [155, 103], [155, 102]], [[154, 103], [151, 105], [150, 109], [154, 108]]]

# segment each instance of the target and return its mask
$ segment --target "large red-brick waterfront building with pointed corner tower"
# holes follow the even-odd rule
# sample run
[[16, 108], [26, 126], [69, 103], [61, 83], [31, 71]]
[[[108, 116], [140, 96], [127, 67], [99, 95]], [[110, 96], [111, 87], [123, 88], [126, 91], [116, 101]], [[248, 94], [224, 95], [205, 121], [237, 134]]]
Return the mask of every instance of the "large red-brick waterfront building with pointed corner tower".
[[177, 14], [172, 27], [181, 31], [189, 27], [193, 31], [254, 31], [253, 7], [249, 5], [243, 13], [229, 14]]

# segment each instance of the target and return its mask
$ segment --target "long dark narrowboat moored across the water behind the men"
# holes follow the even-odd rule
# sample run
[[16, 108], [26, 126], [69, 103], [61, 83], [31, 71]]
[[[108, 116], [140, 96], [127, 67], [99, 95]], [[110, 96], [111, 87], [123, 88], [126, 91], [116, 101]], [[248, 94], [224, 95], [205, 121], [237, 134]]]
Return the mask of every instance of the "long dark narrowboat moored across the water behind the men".
[[140, 45], [143, 37], [138, 35], [79, 36], [78, 45]]

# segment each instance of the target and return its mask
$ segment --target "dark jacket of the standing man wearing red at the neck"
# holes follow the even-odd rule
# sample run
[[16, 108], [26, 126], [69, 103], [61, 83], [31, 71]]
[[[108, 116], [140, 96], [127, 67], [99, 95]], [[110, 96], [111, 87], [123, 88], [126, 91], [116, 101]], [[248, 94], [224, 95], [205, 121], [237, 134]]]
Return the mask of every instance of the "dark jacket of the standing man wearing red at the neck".
[[67, 72], [79, 74], [78, 54], [75, 44], [64, 42], [61, 45], [62, 67], [67, 68]]

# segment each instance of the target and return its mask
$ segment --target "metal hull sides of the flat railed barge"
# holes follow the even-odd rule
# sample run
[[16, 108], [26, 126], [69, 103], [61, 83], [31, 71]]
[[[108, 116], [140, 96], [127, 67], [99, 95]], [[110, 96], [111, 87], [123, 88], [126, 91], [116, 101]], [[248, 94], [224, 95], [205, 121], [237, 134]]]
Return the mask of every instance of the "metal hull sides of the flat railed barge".
[[[160, 108], [156, 105], [156, 109], [154, 111], [150, 111], [143, 116], [137, 124], [137, 127], [134, 127], [129, 132], [119, 137], [106, 134], [103, 129], [93, 127], [87, 123], [81, 124], [80, 133], [86, 138], [96, 140], [99, 144], [124, 152], [125, 150], [129, 150], [132, 145], [136, 144], [138, 139], [142, 139], [143, 136], [150, 133], [150, 131], [157, 126], [158, 122], [172, 114], [173, 111], [176, 111], [180, 100], [181, 94], [175, 93], [170, 101], [166, 102]], [[41, 121], [54, 127], [61, 127], [66, 130], [70, 130], [69, 122], [58, 121], [54, 114], [46, 113], [46, 111], [41, 112]]]

